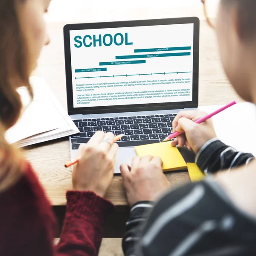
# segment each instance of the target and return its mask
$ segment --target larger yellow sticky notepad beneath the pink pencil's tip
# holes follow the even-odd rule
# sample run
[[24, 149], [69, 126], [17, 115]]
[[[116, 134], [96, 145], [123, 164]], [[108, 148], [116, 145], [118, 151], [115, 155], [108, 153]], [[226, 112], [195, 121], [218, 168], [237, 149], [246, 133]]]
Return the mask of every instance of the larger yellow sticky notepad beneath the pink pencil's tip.
[[135, 147], [138, 156], [145, 157], [151, 155], [160, 157], [163, 161], [163, 171], [176, 171], [186, 169], [186, 162], [180, 151], [171, 146], [171, 142], [155, 143]]

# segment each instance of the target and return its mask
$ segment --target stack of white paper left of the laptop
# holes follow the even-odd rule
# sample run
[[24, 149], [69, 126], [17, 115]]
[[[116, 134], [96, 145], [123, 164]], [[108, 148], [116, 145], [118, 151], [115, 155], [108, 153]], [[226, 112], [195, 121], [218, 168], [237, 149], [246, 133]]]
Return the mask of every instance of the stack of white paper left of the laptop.
[[[10, 144], [16, 143], [17, 146], [24, 147], [79, 133], [44, 79], [31, 77], [30, 83], [34, 90], [34, 99], [19, 121], [6, 131], [6, 140]], [[23, 105], [27, 105], [27, 90], [21, 87], [18, 92]]]

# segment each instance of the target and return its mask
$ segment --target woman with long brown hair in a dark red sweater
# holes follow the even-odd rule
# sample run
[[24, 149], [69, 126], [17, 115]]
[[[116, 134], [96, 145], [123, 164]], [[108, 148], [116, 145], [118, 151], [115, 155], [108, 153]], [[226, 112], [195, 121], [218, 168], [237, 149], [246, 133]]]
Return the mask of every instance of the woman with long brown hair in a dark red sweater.
[[[29, 163], [4, 139], [17, 122], [22, 103], [17, 87], [33, 97], [29, 76], [43, 45], [49, 43], [44, 13], [50, 0], [0, 1], [0, 255], [98, 255], [105, 218], [113, 205], [103, 199], [113, 178], [118, 145], [99, 131], [79, 148], [73, 191], [59, 244], [54, 247], [55, 218]], [[85, 171], [86, 170], [86, 171]]]

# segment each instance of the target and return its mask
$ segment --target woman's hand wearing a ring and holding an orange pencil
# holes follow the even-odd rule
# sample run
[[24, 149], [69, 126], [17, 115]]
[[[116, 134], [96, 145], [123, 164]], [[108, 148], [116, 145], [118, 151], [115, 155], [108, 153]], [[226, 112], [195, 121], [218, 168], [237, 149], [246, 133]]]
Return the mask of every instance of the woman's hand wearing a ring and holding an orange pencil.
[[75, 190], [90, 190], [104, 197], [114, 172], [118, 145], [111, 132], [97, 131], [88, 143], [79, 147], [79, 162], [73, 168], [72, 183]]

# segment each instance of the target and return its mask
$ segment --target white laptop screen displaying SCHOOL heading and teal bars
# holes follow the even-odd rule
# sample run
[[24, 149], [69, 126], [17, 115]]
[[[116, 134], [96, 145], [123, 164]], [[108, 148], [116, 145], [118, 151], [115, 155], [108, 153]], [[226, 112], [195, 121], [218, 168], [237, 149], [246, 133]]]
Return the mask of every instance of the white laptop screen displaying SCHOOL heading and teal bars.
[[70, 30], [73, 108], [192, 102], [194, 24]]

